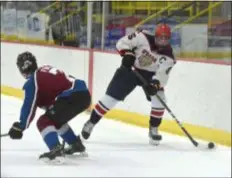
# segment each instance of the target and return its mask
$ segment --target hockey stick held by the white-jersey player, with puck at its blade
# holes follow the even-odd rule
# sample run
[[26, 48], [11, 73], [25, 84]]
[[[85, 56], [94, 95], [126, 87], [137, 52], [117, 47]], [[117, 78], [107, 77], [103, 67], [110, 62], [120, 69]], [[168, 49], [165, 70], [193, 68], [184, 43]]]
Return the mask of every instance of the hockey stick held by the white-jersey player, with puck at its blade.
[[[143, 76], [140, 75], [140, 73], [138, 73], [138, 71], [136, 71], [135, 69], [133, 70], [134, 74], [140, 79], [140, 81], [147, 86], [148, 82], [143, 78]], [[176, 118], [176, 116], [173, 114], [173, 112], [171, 111], [171, 109], [167, 106], [167, 104], [162, 100], [162, 98], [160, 98], [159, 95], [155, 95], [157, 97], [157, 99], [160, 101], [160, 103], [165, 107], [165, 109], [168, 111], [168, 113], [172, 116], [172, 118], [176, 121], [176, 123], [179, 125], [179, 127], [182, 129], [182, 131], [185, 133], [185, 135], [189, 138], [189, 140], [192, 142], [192, 144], [195, 147], [202, 147], [202, 148], [209, 148], [212, 149], [214, 148], [214, 143], [209, 142], [207, 144], [207, 146], [201, 146], [199, 145], [199, 143], [189, 134], [189, 132], [185, 129], [185, 127], [182, 125], [182, 123]]]

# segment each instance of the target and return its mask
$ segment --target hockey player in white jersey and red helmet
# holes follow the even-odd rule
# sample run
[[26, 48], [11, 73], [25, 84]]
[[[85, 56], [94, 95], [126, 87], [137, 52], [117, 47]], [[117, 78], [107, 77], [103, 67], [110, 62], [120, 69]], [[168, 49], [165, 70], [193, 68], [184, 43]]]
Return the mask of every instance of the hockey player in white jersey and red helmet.
[[[82, 137], [88, 139], [94, 126], [119, 101], [123, 101], [136, 86], [142, 86], [145, 95], [151, 101], [149, 121], [149, 140], [151, 144], [159, 144], [162, 136], [158, 133], [164, 114], [164, 107], [154, 96], [165, 101], [164, 87], [170, 70], [174, 66], [175, 58], [169, 44], [171, 29], [167, 24], [159, 24], [155, 35], [146, 31], [136, 31], [122, 37], [116, 44], [122, 56], [121, 66], [116, 70], [105, 96], [96, 104], [90, 119], [82, 129]], [[132, 68], [137, 70], [150, 84], [143, 86]]]

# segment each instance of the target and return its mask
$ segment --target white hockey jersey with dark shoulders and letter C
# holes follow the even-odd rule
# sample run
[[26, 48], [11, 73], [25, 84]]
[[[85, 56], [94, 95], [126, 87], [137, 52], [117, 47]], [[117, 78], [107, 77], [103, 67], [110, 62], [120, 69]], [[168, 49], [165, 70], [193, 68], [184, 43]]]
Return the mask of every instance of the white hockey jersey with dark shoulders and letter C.
[[134, 67], [149, 72], [154, 72], [153, 79], [160, 81], [165, 86], [171, 68], [176, 63], [170, 46], [159, 48], [155, 45], [155, 37], [146, 31], [136, 31], [124, 36], [116, 44], [120, 54], [131, 50], [136, 56]]

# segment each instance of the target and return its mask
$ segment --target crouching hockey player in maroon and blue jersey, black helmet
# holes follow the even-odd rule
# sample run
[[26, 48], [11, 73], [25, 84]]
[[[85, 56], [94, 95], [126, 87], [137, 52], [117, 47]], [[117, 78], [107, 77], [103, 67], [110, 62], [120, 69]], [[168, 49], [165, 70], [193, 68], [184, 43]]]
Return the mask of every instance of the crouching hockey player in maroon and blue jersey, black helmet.
[[[48, 65], [38, 68], [36, 58], [30, 52], [18, 55], [17, 67], [27, 81], [23, 87], [25, 97], [19, 122], [9, 130], [10, 138], [22, 138], [39, 107], [45, 113], [37, 120], [37, 127], [50, 150], [39, 158], [59, 162], [64, 154], [84, 152], [85, 146], [68, 121], [90, 105], [91, 97], [85, 82]], [[69, 144], [68, 148], [62, 148], [58, 135]]]

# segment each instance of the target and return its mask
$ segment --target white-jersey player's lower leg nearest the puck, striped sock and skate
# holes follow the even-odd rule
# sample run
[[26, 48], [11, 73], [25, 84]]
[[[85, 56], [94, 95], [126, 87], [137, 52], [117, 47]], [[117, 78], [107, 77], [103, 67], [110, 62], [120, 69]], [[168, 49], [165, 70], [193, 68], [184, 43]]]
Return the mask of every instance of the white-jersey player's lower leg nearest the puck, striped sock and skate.
[[[165, 101], [165, 93], [163, 90], [158, 91], [157, 94]], [[158, 133], [158, 128], [162, 122], [165, 108], [156, 96], [151, 97], [151, 106], [149, 138], [151, 144], [158, 145], [159, 141], [162, 139], [162, 136]]]

